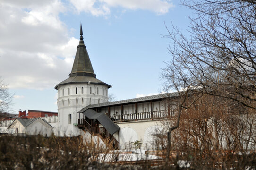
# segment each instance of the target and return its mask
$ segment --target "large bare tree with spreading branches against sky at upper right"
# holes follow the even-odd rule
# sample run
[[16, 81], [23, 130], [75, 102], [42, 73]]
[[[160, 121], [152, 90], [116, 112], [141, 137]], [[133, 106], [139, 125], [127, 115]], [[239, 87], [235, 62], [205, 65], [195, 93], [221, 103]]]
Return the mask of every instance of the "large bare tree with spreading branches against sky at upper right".
[[[173, 26], [172, 59], [163, 70], [169, 87], [232, 99], [255, 109], [256, 3], [254, 0], [191, 0], [197, 13], [185, 37]], [[193, 88], [192, 88], [193, 87]]]

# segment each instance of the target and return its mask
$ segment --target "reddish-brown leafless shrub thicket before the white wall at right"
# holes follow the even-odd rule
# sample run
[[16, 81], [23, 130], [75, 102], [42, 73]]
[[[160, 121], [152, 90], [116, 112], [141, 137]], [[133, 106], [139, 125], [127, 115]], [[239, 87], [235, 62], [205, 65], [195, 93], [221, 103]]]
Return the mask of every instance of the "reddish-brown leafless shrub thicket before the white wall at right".
[[[171, 127], [175, 122], [171, 117], [163, 124]], [[186, 160], [190, 169], [252, 168], [256, 164], [255, 136], [254, 109], [204, 95], [182, 110], [179, 128], [171, 134], [171, 150], [177, 153], [172, 161]]]

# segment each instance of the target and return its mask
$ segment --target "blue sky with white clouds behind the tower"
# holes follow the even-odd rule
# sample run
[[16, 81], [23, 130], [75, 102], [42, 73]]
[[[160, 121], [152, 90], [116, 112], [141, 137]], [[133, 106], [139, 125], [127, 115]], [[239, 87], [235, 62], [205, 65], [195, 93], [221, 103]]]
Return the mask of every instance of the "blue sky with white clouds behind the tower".
[[[68, 78], [80, 22], [94, 73], [124, 100], [162, 92], [171, 39], [192, 13], [179, 0], [0, 0], [0, 76], [12, 113], [57, 112], [55, 85]], [[165, 23], [165, 24], [164, 24]]]

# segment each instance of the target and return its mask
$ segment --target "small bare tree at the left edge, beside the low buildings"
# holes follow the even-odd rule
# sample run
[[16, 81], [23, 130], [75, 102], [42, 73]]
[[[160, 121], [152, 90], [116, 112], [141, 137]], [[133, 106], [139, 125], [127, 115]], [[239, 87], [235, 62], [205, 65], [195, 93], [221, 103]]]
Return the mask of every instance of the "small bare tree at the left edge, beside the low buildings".
[[8, 92], [7, 85], [0, 78], [0, 113], [10, 111], [12, 97], [13, 95]]

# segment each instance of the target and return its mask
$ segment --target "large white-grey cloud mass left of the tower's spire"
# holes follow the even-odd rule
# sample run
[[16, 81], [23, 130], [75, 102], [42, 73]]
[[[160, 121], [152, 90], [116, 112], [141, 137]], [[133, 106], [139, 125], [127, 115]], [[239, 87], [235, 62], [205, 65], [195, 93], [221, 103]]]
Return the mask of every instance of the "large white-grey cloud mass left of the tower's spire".
[[0, 5], [0, 73], [9, 88], [52, 88], [67, 78], [78, 39], [68, 37], [60, 0]]

